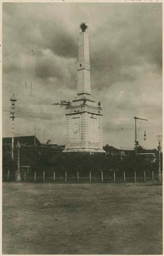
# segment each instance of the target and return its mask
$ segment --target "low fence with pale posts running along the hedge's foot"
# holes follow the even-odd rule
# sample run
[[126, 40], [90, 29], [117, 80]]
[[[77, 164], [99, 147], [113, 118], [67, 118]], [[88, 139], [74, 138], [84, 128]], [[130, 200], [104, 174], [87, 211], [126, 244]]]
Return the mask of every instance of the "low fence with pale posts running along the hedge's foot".
[[[16, 181], [16, 172], [3, 172], [2, 174], [3, 182], [14, 182]], [[122, 175], [117, 175], [117, 172], [100, 172], [99, 176], [95, 176], [91, 171], [88, 175], [83, 175], [77, 171], [77, 176], [67, 176], [67, 171], [62, 175], [57, 172], [52, 172], [51, 176], [47, 176], [46, 172], [21, 172], [21, 182], [53, 182], [53, 183], [121, 183], [121, 182], [157, 182], [157, 173], [154, 171], [144, 171], [141, 175], [137, 172], [131, 173], [130, 176], [126, 176], [126, 172]]]

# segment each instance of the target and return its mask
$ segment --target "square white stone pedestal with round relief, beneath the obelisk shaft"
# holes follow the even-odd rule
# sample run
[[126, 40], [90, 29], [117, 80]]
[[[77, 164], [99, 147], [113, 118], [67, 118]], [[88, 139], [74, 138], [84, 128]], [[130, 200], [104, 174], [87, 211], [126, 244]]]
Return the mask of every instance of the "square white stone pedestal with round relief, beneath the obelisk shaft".
[[93, 106], [94, 101], [92, 106], [89, 103], [80, 100], [74, 101], [74, 106], [67, 106], [63, 152], [105, 152], [102, 144], [102, 108]]

